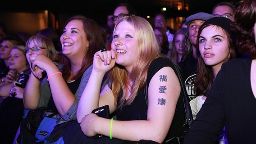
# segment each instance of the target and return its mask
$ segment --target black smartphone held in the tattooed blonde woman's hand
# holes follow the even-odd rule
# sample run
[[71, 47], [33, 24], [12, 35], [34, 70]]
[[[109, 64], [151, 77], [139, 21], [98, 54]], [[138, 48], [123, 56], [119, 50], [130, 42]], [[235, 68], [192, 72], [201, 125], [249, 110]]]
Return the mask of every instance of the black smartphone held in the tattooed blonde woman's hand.
[[[100, 108], [96, 108], [91, 111], [91, 113], [95, 113], [99, 117], [104, 117], [110, 119], [110, 107], [109, 105], [102, 106]], [[103, 135], [97, 134], [92, 136], [93, 139], [101, 138]]]

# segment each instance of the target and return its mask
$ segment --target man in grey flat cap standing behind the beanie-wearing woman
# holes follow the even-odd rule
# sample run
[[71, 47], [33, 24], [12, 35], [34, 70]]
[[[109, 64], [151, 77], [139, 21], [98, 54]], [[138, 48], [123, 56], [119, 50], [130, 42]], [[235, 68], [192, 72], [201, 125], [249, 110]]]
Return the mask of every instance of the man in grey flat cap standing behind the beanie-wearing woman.
[[187, 51], [178, 65], [183, 72], [183, 80], [189, 100], [197, 96], [194, 91], [194, 79], [197, 75], [197, 32], [199, 27], [206, 20], [213, 17], [212, 14], [201, 12], [191, 15], [185, 20], [185, 24], [188, 28], [187, 36], [185, 37], [185, 49], [187, 49]]

